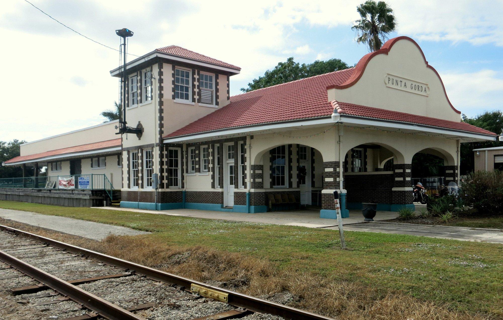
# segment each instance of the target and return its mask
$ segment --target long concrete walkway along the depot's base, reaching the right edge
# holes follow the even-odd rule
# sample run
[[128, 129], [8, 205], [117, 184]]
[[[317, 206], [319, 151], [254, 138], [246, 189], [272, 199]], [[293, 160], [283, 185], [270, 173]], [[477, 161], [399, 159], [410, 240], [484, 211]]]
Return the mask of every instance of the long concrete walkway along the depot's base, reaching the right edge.
[[[219, 212], [209, 210], [143, 210], [129, 208], [96, 207], [96, 209], [108, 209], [118, 211], [133, 211], [151, 214], [185, 216], [192, 218], [219, 219], [230, 221], [262, 222], [277, 225], [301, 226], [309, 228], [337, 229], [337, 220], [319, 218], [317, 211], [274, 211], [266, 213], [236, 213]], [[364, 222], [360, 210], [350, 210], [350, 217], [343, 219], [344, 230], [367, 231], [381, 233], [408, 234], [412, 236], [424, 236], [432, 238], [445, 238], [464, 241], [483, 241], [503, 243], [503, 231], [491, 229], [473, 229], [464, 227], [427, 226], [408, 223], [391, 223], [382, 220], [394, 219], [396, 212], [378, 211], [374, 222]], [[381, 220], [381, 221], [380, 221]]]

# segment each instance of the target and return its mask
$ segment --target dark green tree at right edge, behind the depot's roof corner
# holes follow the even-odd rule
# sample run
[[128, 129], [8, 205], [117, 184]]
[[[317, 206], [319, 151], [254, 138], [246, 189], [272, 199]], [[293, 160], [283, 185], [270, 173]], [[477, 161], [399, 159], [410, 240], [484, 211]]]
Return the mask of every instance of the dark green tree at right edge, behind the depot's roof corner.
[[[462, 115], [462, 121], [500, 134], [503, 131], [503, 112], [499, 110], [485, 111], [474, 118], [468, 118], [466, 114]], [[461, 161], [460, 173], [466, 175], [474, 170], [473, 149], [490, 148], [494, 146], [503, 146], [501, 141], [480, 141], [461, 143]]]

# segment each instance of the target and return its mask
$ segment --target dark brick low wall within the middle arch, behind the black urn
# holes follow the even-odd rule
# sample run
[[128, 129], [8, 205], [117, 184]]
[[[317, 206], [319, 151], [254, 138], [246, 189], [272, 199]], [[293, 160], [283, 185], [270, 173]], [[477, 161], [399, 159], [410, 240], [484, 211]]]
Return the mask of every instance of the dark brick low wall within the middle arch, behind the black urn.
[[349, 175], [345, 177], [347, 202], [391, 203], [393, 175]]

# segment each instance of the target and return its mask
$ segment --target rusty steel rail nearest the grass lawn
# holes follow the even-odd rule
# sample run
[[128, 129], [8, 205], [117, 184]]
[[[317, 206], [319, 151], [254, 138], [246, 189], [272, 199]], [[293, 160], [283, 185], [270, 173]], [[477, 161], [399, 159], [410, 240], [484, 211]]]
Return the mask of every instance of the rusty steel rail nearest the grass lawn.
[[172, 274], [169, 272], [153, 269], [141, 264], [137, 264], [131, 261], [126, 261], [120, 258], [116, 258], [113, 256], [109, 256], [103, 253], [99, 253], [96, 251], [92, 251], [89, 249], [77, 247], [71, 244], [67, 244], [64, 242], [60, 242], [54, 239], [46, 238], [43, 236], [39, 236], [30, 232], [22, 231], [19, 229], [11, 228], [8, 226], [0, 225], [0, 230], [4, 230], [7, 232], [11, 232], [17, 235], [22, 235], [28, 238], [31, 238], [33, 240], [37, 240], [40, 242], [43, 242], [47, 245], [50, 245], [52, 247], [66, 250], [68, 252], [71, 252], [73, 254], [78, 254], [81, 256], [86, 256], [88, 258], [92, 258], [95, 260], [99, 260], [100, 262], [103, 262], [105, 264], [123, 269], [125, 271], [132, 271], [136, 274], [144, 275], [152, 280], [163, 282], [169, 285], [175, 285], [178, 286], [179, 288], [186, 289], [187, 291], [190, 291], [191, 284], [197, 284], [200, 286], [204, 286], [207, 288], [211, 288], [223, 293], [228, 294], [228, 304], [236, 306], [236, 307], [242, 307], [246, 308], [250, 311], [253, 312], [260, 312], [260, 313], [270, 313], [274, 315], [279, 315], [285, 319], [298, 319], [298, 320], [311, 320], [311, 319], [316, 319], [316, 320], [333, 320], [331, 317], [327, 317], [324, 315], [312, 313], [309, 311], [297, 309], [291, 306], [283, 305], [280, 303], [268, 301], [265, 299], [257, 298], [254, 296], [250, 296], [247, 294], [227, 290], [225, 288], [220, 288], [216, 286], [209, 285], [204, 282], [196, 281], [196, 280], [191, 280], [186, 277], [182, 277], [176, 274]]

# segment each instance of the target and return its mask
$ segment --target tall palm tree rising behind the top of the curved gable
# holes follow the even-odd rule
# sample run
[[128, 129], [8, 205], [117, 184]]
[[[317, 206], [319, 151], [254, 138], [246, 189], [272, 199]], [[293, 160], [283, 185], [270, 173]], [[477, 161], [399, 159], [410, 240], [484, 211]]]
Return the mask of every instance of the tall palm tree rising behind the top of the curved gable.
[[351, 28], [358, 35], [356, 42], [367, 44], [369, 52], [381, 49], [383, 42], [388, 39], [388, 34], [395, 31], [393, 10], [384, 1], [376, 3], [372, 0], [361, 4], [356, 10], [362, 17], [355, 21]]

